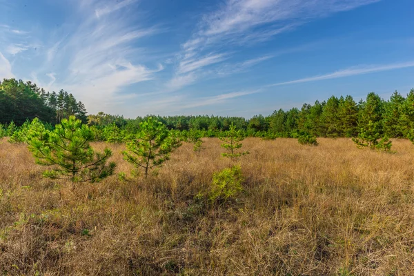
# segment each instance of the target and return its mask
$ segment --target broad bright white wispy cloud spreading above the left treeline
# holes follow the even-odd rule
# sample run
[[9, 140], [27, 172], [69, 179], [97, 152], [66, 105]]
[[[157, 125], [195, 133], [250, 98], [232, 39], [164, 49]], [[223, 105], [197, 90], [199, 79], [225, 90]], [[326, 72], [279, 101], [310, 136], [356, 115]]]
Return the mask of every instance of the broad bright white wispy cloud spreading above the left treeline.
[[136, 20], [130, 9], [135, 0], [81, 2], [79, 13], [73, 14], [76, 23], [43, 41], [44, 62], [32, 76], [48, 76], [46, 86], [73, 92], [90, 112], [111, 112], [111, 103], [128, 97], [119, 95], [124, 87], [154, 79], [164, 69], [142, 64], [139, 46], [141, 39], [160, 30], [131, 23]]

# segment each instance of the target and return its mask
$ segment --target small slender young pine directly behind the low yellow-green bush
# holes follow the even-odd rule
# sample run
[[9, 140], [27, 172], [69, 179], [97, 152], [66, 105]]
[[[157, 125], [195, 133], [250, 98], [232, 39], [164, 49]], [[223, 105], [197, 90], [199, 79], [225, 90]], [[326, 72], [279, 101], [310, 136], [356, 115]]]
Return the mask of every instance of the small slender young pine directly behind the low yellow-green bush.
[[221, 147], [225, 148], [227, 152], [221, 153], [222, 157], [230, 157], [231, 159], [237, 159], [242, 155], [248, 155], [248, 151], [239, 152], [239, 148], [242, 148], [243, 144], [240, 141], [244, 140], [244, 135], [240, 130], [236, 130], [234, 124], [230, 125], [230, 130], [224, 132], [224, 134], [219, 137], [224, 143], [221, 144]]

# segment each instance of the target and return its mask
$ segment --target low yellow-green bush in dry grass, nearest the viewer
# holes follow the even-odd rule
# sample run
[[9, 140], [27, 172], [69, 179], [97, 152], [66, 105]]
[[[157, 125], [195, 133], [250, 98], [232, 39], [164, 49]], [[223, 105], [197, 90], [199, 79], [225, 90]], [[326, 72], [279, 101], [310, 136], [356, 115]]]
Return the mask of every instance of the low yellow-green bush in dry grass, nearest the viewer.
[[216, 172], [210, 185], [208, 200], [214, 203], [235, 197], [243, 190], [243, 180], [242, 168], [240, 166], [233, 166]]

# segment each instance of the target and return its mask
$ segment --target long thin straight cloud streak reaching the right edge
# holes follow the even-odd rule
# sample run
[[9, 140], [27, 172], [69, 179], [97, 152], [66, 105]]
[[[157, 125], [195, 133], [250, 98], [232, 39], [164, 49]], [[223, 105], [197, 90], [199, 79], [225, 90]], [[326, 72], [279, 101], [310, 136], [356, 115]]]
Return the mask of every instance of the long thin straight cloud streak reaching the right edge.
[[338, 79], [342, 77], [351, 77], [355, 75], [364, 75], [373, 72], [382, 72], [388, 70], [396, 70], [402, 68], [409, 68], [414, 67], [414, 61], [408, 61], [404, 63], [391, 63], [385, 65], [371, 65], [371, 66], [356, 66], [352, 68], [347, 68], [344, 70], [338, 70], [333, 73], [325, 74], [325, 75], [317, 75], [313, 77], [306, 77], [303, 79], [295, 79], [294, 81], [284, 81], [279, 83], [270, 84], [268, 86], [284, 86], [286, 84], [295, 84], [295, 83], [304, 83], [310, 81], [322, 81], [325, 79]]

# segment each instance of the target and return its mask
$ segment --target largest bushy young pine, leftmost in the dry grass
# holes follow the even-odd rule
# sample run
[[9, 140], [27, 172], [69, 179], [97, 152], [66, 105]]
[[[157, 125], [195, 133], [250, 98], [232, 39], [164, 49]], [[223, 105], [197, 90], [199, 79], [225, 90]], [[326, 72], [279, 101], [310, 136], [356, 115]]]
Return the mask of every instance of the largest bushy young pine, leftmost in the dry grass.
[[63, 119], [48, 135], [33, 130], [31, 136], [29, 149], [37, 164], [52, 167], [43, 172], [45, 177], [70, 180], [75, 188], [77, 182], [100, 181], [115, 169], [114, 162], [107, 164], [110, 149], [95, 152], [89, 144], [92, 131], [75, 116]]

